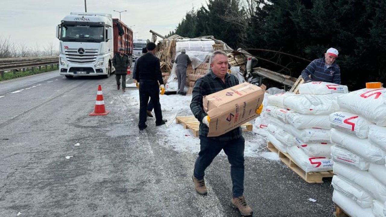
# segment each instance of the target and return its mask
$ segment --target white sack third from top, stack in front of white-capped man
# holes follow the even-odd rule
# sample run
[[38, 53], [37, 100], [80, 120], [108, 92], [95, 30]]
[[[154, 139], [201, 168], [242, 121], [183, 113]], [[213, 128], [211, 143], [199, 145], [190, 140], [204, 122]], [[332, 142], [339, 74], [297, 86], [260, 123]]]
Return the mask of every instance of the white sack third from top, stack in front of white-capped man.
[[320, 128], [331, 129], [328, 115], [303, 115], [298, 112], [289, 112], [286, 115], [286, 120], [296, 129]]

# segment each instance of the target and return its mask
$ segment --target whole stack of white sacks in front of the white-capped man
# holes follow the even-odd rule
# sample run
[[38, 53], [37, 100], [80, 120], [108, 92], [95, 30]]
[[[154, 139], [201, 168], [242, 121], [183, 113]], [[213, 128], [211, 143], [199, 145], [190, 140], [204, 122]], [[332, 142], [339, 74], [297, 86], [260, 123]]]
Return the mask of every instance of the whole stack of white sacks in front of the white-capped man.
[[286, 144], [287, 153], [305, 172], [332, 170], [328, 115], [339, 110], [336, 94], [347, 93], [347, 86], [329, 85], [335, 84], [305, 83], [299, 87], [301, 94], [268, 97], [266, 111], [274, 117], [271, 124], [282, 129], [274, 136]]

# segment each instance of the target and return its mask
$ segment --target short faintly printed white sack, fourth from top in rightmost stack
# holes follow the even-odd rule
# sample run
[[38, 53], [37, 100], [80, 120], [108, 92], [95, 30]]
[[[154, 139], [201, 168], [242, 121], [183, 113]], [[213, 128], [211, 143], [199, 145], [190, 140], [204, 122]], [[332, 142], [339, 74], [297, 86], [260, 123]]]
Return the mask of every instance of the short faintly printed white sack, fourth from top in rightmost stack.
[[338, 145], [331, 146], [331, 156], [334, 162], [346, 164], [358, 170], [369, 170], [369, 161], [366, 161], [361, 156], [352, 153], [344, 147]]

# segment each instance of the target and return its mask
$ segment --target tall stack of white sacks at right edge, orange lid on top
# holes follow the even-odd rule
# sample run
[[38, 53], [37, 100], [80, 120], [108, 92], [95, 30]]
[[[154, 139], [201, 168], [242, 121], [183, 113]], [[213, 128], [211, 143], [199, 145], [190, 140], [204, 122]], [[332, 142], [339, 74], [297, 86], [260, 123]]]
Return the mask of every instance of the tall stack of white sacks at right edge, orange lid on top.
[[330, 114], [333, 201], [350, 216], [386, 216], [386, 89], [338, 97]]

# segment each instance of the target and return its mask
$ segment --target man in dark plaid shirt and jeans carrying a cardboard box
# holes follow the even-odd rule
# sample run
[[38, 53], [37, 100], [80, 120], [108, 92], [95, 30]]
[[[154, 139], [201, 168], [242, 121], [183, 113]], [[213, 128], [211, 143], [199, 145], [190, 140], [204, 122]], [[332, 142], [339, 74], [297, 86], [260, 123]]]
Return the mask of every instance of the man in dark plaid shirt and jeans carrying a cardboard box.
[[242, 215], [252, 215], [243, 196], [244, 193], [244, 146], [245, 140], [241, 135], [241, 128], [237, 127], [223, 135], [208, 137], [208, 125], [210, 119], [204, 112], [202, 98], [226, 88], [238, 85], [239, 80], [228, 72], [228, 58], [222, 51], [215, 51], [210, 56], [210, 71], [199, 78], [193, 87], [193, 97], [190, 109], [200, 121], [200, 152], [196, 159], [193, 182], [196, 192], [207, 194], [204, 175], [205, 169], [223, 149], [230, 163], [230, 175], [232, 177], [232, 206], [239, 209]]

